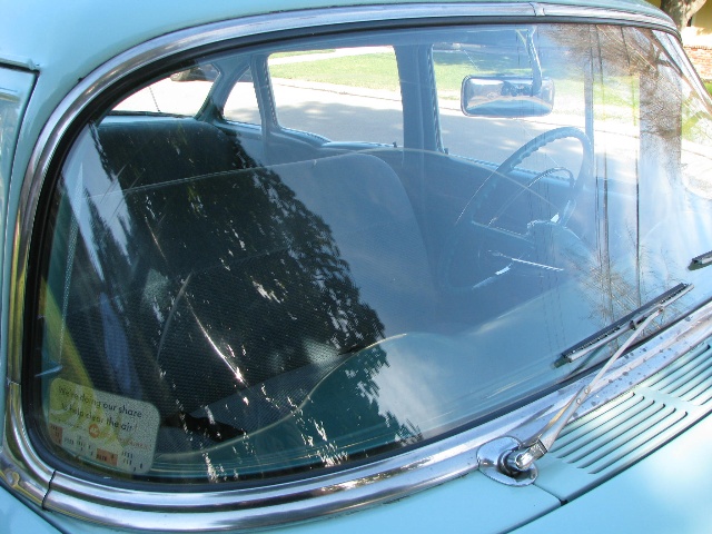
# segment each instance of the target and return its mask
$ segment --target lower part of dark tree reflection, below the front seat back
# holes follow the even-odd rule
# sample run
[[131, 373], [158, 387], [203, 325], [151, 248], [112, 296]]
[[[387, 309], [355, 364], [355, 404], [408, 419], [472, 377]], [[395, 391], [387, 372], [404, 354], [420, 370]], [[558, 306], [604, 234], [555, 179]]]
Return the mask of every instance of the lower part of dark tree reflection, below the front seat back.
[[224, 473], [212, 481], [330, 467], [422, 441], [412, 422], [382, 412], [376, 377], [387, 365], [378, 346], [352, 356], [277, 425], [209, 453]]

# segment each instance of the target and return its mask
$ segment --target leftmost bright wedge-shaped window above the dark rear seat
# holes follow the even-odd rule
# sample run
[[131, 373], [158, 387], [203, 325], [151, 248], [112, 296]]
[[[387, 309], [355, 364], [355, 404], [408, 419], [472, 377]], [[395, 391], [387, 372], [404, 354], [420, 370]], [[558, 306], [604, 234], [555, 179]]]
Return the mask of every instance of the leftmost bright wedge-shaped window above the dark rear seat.
[[205, 103], [217, 77], [218, 70], [211, 65], [181, 70], [135, 92], [113, 111], [192, 117]]

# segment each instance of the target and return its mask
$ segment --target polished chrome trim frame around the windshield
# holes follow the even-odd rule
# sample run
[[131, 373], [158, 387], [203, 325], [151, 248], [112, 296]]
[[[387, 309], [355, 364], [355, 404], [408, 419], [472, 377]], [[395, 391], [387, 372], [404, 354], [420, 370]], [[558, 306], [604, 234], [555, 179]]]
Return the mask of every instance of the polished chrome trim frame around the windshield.
[[[661, 17], [600, 8], [578, 8], [546, 3], [408, 4], [317, 9], [271, 13], [228, 20], [177, 31], [139, 44], [111, 59], [85, 78], [62, 100], [44, 126], [22, 184], [20, 211], [14, 228], [14, 251], [10, 278], [8, 339], [8, 397], [6, 432], [0, 452], [0, 481], [29, 503], [44, 510], [85, 518], [115, 527], [197, 531], [226, 527], [265, 527], [298, 522], [366, 505], [400, 498], [477, 468], [479, 445], [506, 432], [526, 434], [524, 422], [541, 421], [561, 408], [567, 392], [586, 379], [566, 386], [527, 406], [473, 429], [408, 449], [374, 462], [320, 472], [259, 487], [214, 491], [170, 492], [117, 488], [56, 471], [36, 452], [30, 442], [22, 412], [21, 367], [24, 332], [24, 304], [34, 218], [44, 179], [52, 160], [75, 122], [101, 95], [135, 75], [139, 69], [168, 60], [176, 55], [240, 39], [269, 38], [281, 31], [304, 32], [324, 28], [333, 31], [352, 24], [486, 22], [604, 22], [644, 26], [676, 34], [672, 23]], [[712, 305], [700, 308], [691, 320], [650, 340], [622, 358], [612, 372], [605, 390], [591, 397], [578, 417], [606, 399], [674, 360], [701, 343], [712, 332]], [[602, 386], [603, 387], [603, 386]], [[515, 432], [515, 434], [516, 434]], [[524, 436], [522, 436], [524, 437]], [[119, 513], [120, 511], [120, 513]]]

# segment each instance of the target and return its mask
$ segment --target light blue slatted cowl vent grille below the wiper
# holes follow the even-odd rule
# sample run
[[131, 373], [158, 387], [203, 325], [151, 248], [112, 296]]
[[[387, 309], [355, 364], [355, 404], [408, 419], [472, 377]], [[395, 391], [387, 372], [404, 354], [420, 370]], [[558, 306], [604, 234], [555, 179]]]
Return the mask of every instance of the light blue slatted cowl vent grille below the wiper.
[[712, 411], [712, 347], [678, 358], [568, 424], [538, 462], [536, 485], [568, 501], [661, 447]]

